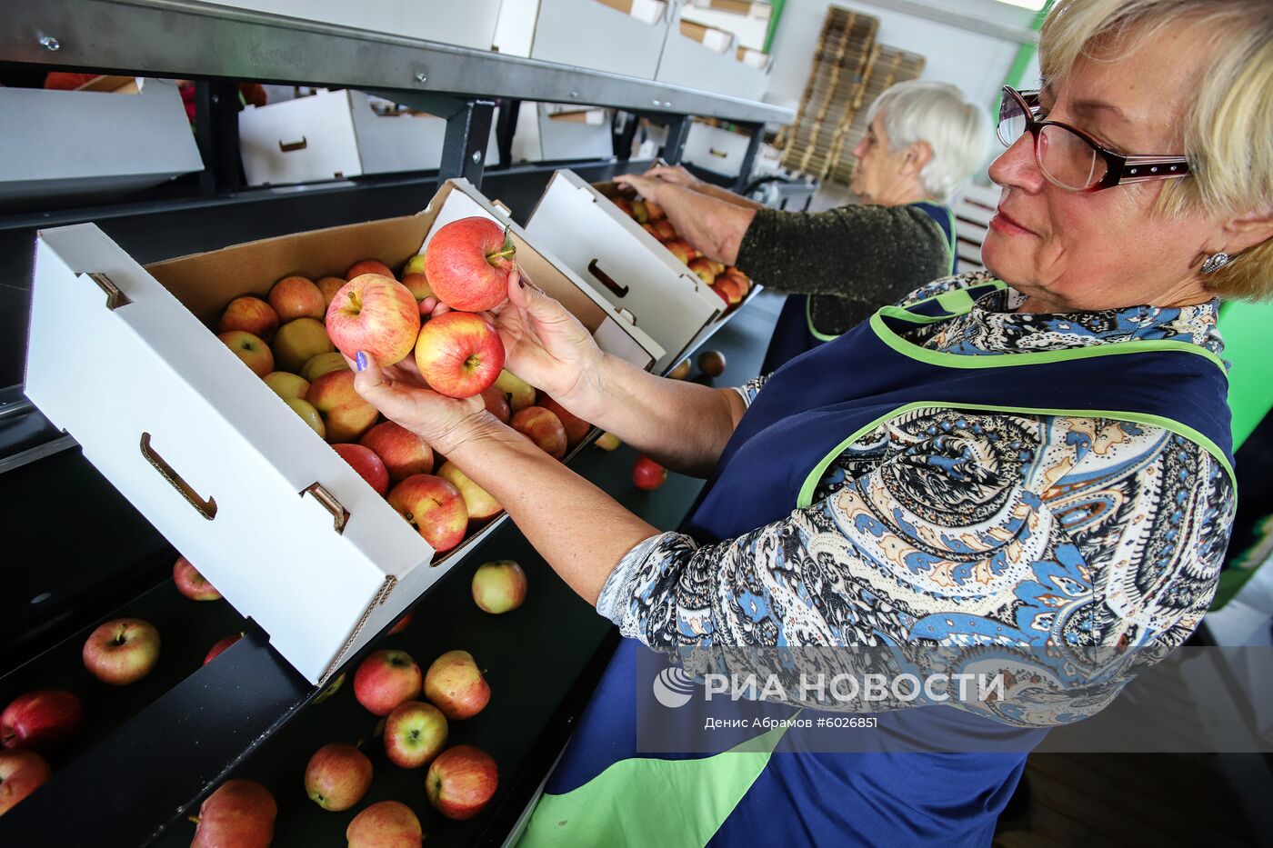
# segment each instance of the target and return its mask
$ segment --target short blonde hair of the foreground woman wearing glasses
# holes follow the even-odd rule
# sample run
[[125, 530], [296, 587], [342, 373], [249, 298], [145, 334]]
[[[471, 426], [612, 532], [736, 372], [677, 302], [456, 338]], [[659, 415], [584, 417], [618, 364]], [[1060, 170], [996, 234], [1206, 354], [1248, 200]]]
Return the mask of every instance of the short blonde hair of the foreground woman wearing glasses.
[[[1066, 76], [1080, 57], [1110, 59], [1106, 48], [1133, 47], [1180, 20], [1212, 37], [1202, 47], [1211, 64], [1184, 121], [1192, 176], [1169, 180], [1157, 210], [1171, 216], [1273, 211], [1270, 0], [1058, 0], [1039, 36], [1044, 79]], [[1228, 298], [1273, 295], [1273, 239], [1244, 251], [1206, 283]]]

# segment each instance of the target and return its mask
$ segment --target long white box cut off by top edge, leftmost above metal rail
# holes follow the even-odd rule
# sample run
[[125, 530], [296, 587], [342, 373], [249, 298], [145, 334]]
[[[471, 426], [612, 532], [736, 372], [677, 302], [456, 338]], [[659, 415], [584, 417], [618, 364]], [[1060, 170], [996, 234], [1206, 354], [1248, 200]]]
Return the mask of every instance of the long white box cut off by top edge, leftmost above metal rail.
[[220, 6], [266, 11], [353, 29], [490, 50], [499, 0], [209, 0]]

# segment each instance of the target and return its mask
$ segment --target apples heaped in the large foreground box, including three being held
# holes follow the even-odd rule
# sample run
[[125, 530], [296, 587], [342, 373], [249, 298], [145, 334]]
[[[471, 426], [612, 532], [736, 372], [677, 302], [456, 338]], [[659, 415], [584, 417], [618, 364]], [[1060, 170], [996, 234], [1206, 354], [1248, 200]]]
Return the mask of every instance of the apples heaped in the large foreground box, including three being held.
[[433, 474], [433, 451], [382, 420], [354, 390], [349, 362], [362, 353], [381, 367], [410, 363], [442, 395], [481, 395], [495, 418], [565, 458], [591, 425], [551, 397], [537, 400], [528, 383], [503, 369], [504, 345], [485, 314], [507, 297], [516, 252], [494, 220], [461, 218], [438, 228], [425, 252], [402, 267], [401, 280], [374, 258], [355, 262], [344, 276], [290, 275], [265, 297], [233, 299], [218, 322], [218, 337], [243, 364], [438, 553], [463, 541], [470, 522], [502, 508], [453, 463]]

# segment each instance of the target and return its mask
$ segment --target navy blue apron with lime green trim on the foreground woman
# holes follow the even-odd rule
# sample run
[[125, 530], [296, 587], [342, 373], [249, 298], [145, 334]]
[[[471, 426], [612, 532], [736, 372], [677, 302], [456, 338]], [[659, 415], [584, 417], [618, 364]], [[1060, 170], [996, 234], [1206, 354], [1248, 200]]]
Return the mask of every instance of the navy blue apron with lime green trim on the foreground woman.
[[[700, 544], [735, 539], [808, 505], [844, 447], [920, 406], [1091, 414], [1165, 427], [1231, 471], [1227, 378], [1198, 345], [1129, 341], [1073, 351], [959, 355], [900, 331], [966, 313], [987, 283], [886, 307], [773, 374], [684, 523]], [[782, 637], [779, 638], [782, 644]], [[642, 755], [636, 652], [616, 651], [551, 774], [523, 848], [538, 845], [988, 845], [1045, 731], [948, 707], [878, 713], [881, 738], [1004, 740], [1009, 753], [812, 754], [801, 730], [773, 755]], [[649, 684], [647, 684], [649, 685]], [[970, 744], [971, 747], [971, 744]], [[929, 747], [928, 750], [934, 750]], [[979, 745], [978, 750], [987, 750]], [[735, 758], [722, 759], [722, 758]], [[749, 759], [750, 758], [750, 759]]]

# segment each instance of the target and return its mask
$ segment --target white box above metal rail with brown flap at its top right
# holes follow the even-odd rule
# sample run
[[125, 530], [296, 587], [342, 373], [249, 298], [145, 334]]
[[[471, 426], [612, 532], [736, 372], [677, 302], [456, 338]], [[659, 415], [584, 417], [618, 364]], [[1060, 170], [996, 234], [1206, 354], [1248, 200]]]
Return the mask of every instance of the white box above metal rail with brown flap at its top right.
[[635, 0], [630, 10], [600, 0], [504, 0], [495, 45], [512, 56], [654, 79], [666, 5]]

